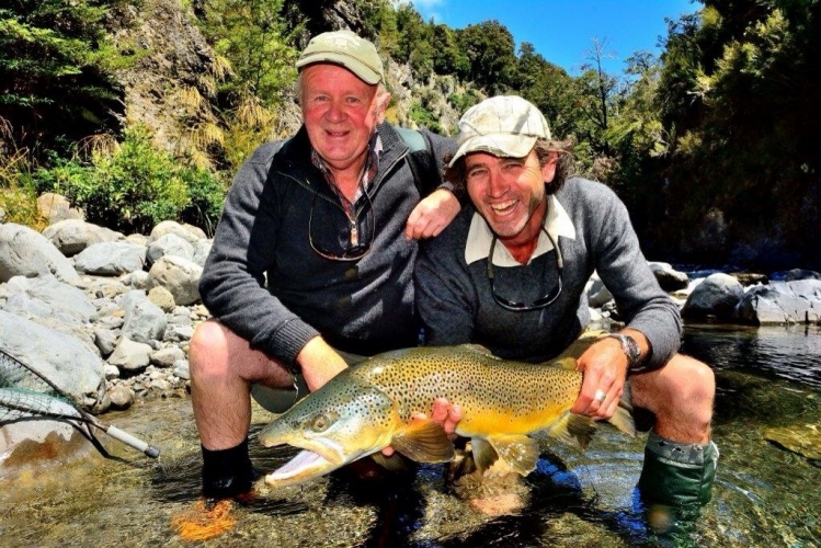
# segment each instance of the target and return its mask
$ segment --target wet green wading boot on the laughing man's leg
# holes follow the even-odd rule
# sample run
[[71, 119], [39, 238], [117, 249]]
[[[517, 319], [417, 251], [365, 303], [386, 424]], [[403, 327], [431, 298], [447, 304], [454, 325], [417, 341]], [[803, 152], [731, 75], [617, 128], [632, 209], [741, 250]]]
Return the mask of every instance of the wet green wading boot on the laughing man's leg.
[[650, 432], [638, 488], [650, 527], [660, 534], [686, 536], [702, 506], [712, 495], [718, 447], [681, 444]]

